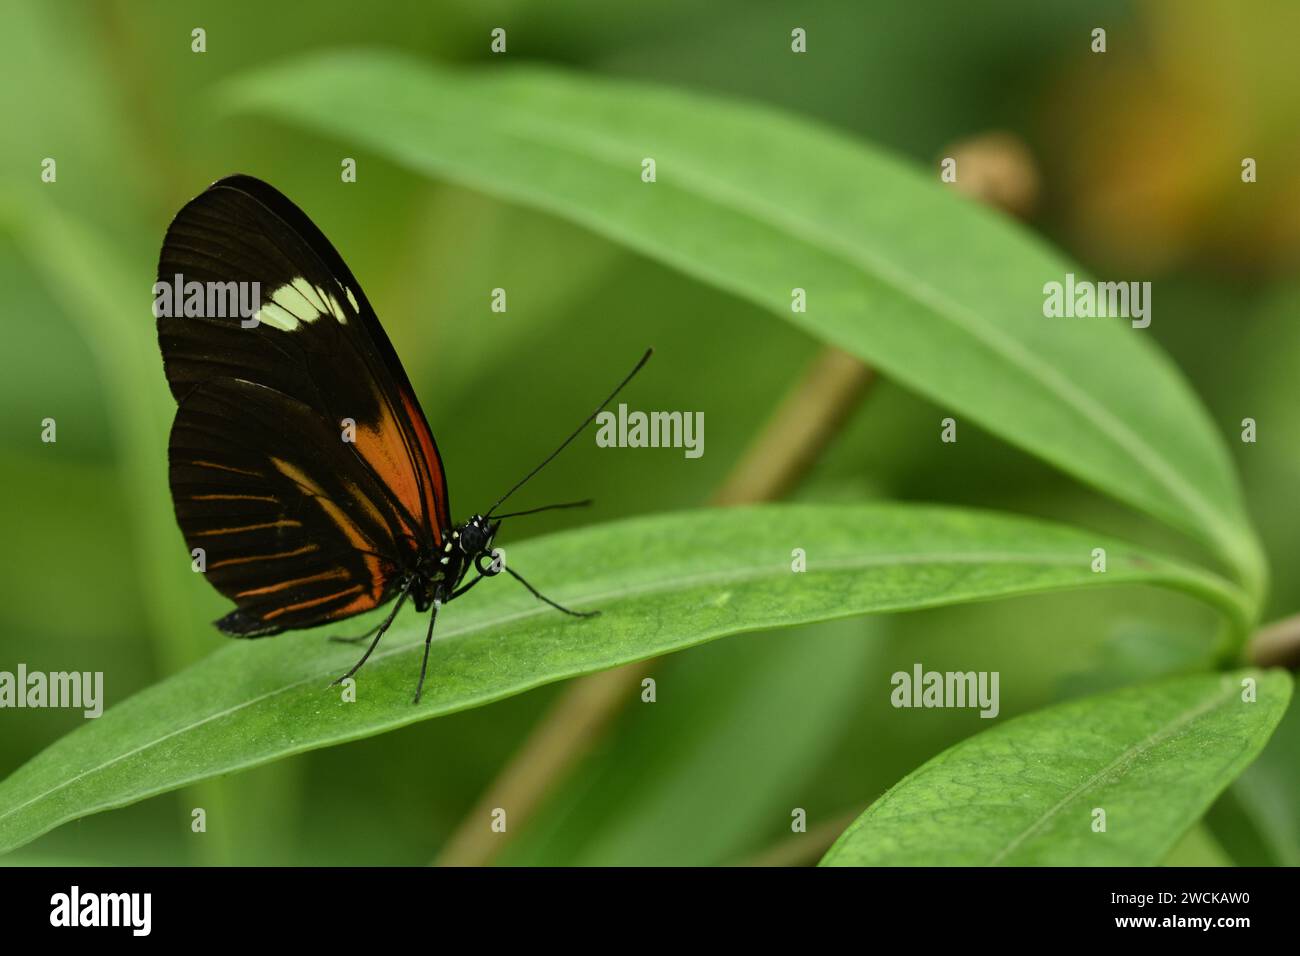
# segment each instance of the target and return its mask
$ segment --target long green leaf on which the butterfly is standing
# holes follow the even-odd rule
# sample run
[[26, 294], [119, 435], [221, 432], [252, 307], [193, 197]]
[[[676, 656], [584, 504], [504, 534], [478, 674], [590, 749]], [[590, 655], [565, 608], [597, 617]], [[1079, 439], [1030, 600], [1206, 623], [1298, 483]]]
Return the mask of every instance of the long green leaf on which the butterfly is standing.
[[[321, 630], [229, 643], [87, 722], [0, 784], [0, 852], [194, 780], [725, 635], [1121, 583], [1187, 592], [1239, 626], [1247, 613], [1232, 585], [1119, 541], [911, 505], [694, 511], [506, 546], [510, 563], [543, 593], [603, 614], [567, 618], [510, 580], [476, 588], [442, 613], [420, 706], [411, 692], [422, 615], [398, 620], [358, 674], [352, 704], [329, 682], [358, 649], [326, 643]], [[801, 574], [792, 572], [796, 548], [806, 551]], [[1105, 574], [1091, 570], [1093, 548], [1108, 551]]]

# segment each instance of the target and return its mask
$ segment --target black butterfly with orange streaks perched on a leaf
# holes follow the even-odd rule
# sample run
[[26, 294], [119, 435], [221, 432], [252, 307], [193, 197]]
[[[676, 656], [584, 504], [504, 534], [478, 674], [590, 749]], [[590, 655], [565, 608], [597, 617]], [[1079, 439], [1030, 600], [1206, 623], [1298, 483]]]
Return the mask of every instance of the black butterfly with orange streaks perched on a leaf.
[[[494, 548], [495, 514], [564, 450], [632, 372], [486, 511], [455, 523], [433, 432], [361, 286], [321, 230], [251, 176], [212, 183], [172, 221], [153, 313], [177, 402], [168, 447], [176, 518], [235, 637], [337, 623], [393, 601], [429, 611], [415, 701], [441, 606], [500, 571], [552, 607]], [[200, 564], [195, 564], [200, 567]], [[465, 581], [469, 571], [474, 576]]]

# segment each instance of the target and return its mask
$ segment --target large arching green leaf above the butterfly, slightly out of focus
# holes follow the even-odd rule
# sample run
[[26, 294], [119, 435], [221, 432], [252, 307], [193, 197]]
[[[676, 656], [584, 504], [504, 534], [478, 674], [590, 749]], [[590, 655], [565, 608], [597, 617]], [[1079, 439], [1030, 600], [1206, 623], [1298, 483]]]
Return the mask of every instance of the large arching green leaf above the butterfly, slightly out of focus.
[[[1262, 589], [1223, 442], [1149, 329], [1044, 317], [1044, 284], [1082, 269], [933, 172], [757, 105], [541, 68], [329, 53], [225, 95], [768, 308], [1199, 537]], [[796, 287], [806, 312], [792, 311]]]

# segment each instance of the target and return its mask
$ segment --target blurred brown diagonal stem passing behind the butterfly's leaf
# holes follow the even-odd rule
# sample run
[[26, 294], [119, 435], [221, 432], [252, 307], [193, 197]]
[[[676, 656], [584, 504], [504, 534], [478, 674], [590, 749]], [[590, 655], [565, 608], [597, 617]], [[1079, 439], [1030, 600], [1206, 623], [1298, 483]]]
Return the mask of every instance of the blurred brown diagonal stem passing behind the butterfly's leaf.
[[[838, 349], [823, 349], [714, 493], [711, 503], [749, 505], [785, 494], [838, 433], [872, 378], [872, 371], [859, 359]], [[640, 661], [569, 683], [434, 862], [439, 866], [490, 862], [599, 740], [615, 714], [636, 700], [641, 680], [655, 663]], [[504, 832], [493, 832], [489, 826], [497, 808], [507, 813]]]

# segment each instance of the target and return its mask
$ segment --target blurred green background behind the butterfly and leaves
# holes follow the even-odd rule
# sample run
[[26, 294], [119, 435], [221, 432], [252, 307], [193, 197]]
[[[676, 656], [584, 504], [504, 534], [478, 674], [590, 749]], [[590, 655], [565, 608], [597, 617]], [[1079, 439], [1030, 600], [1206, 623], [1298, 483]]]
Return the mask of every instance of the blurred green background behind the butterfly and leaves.
[[[4, 601], [0, 669], [103, 670], [108, 702], [216, 649], [226, 604], [188, 571], [166, 498], [166, 394], [148, 313], [166, 222], [208, 182], [276, 183], [338, 246], [403, 356], [447, 462], [456, 516], [530, 467], [646, 345], [645, 408], [705, 412], [706, 454], [595, 455], [530, 501], [592, 512], [516, 523], [503, 542], [703, 503], [819, 346], [789, 325], [582, 229], [429, 182], [354, 144], [216, 112], [222, 79], [311, 51], [510, 59], [767, 101], [933, 166], [1009, 155], [1028, 226], [1095, 272], [1149, 278], [1150, 334], [1222, 427], [1273, 564], [1269, 618], [1300, 606], [1300, 7], [1226, 3], [871, 4], [660, 0], [6, 4], [0, 53]], [[190, 49], [207, 30], [208, 49]], [[809, 53], [790, 56], [802, 26]], [[1109, 52], [1088, 51], [1095, 26]], [[1238, 179], [1253, 144], [1258, 190]], [[1010, 144], [1010, 146], [1008, 146]], [[44, 157], [57, 183], [40, 182]], [[359, 181], [341, 187], [339, 159]], [[1264, 183], [1268, 182], [1268, 187]], [[870, 189], [870, 183], [863, 183]], [[96, 250], [107, 250], [100, 255]], [[510, 311], [489, 310], [508, 290]], [[878, 384], [798, 492], [994, 507], [1143, 538], [1173, 532]], [[1236, 440], [1260, 423], [1260, 441]], [[55, 418], [58, 441], [40, 442]], [[941, 458], [940, 458], [941, 457]], [[1000, 670], [1002, 717], [1205, 666], [1190, 601], [1104, 589], [745, 636], [684, 652], [659, 702], [629, 704], [502, 856], [507, 864], [725, 864], [844, 819], [950, 743], [970, 711], [888, 705], [889, 674]], [[809, 653], [809, 648], [815, 653]], [[421, 864], [562, 687], [318, 750], [42, 838], [12, 862]], [[8, 774], [79, 715], [0, 715]], [[1300, 714], [1212, 812], [1180, 862], [1300, 862]], [[190, 831], [204, 806], [208, 831]]]

